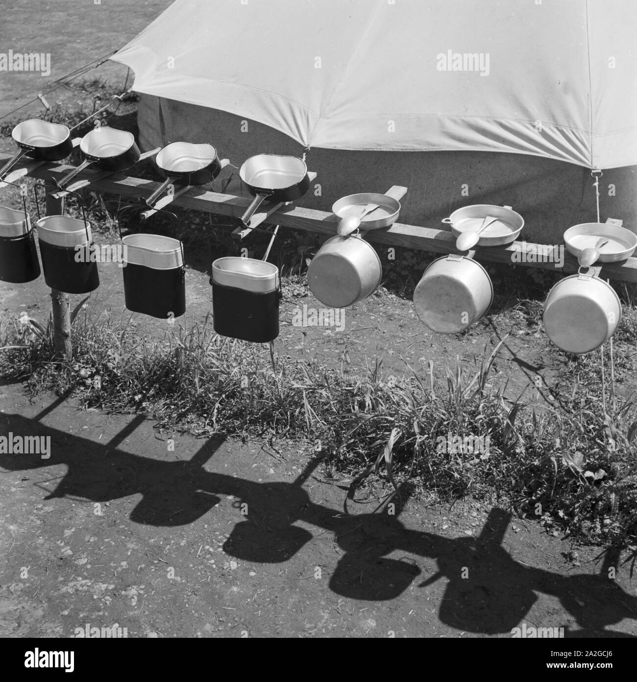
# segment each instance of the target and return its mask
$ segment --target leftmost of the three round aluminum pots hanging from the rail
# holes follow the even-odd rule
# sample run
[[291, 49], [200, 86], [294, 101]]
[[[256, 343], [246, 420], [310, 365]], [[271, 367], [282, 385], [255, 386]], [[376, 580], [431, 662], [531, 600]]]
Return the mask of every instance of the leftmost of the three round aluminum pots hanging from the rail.
[[315, 297], [330, 308], [346, 308], [376, 291], [383, 275], [378, 254], [360, 236], [331, 237], [307, 270]]

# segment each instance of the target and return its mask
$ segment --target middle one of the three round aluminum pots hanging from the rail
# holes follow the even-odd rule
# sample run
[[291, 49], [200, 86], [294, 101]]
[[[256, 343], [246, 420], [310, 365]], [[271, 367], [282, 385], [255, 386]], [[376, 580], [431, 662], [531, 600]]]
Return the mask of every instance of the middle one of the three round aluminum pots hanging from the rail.
[[492, 302], [493, 284], [487, 271], [473, 258], [456, 254], [433, 261], [414, 290], [418, 319], [441, 334], [467, 329]]

